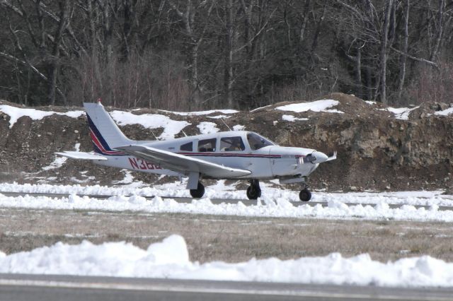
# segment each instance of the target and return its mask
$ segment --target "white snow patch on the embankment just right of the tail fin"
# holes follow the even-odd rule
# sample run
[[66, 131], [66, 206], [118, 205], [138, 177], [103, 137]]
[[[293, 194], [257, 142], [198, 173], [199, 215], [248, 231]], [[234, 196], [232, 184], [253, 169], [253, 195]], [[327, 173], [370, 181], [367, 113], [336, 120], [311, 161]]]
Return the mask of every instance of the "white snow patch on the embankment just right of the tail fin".
[[158, 137], [162, 139], [175, 138], [175, 135], [182, 131], [185, 126], [190, 125], [188, 122], [173, 120], [160, 114], [136, 115], [131, 112], [113, 111], [110, 112], [110, 116], [118, 125], [141, 124], [147, 129], [164, 128], [164, 132]]

